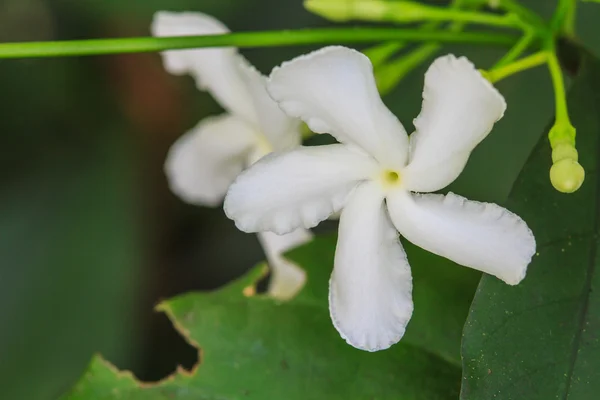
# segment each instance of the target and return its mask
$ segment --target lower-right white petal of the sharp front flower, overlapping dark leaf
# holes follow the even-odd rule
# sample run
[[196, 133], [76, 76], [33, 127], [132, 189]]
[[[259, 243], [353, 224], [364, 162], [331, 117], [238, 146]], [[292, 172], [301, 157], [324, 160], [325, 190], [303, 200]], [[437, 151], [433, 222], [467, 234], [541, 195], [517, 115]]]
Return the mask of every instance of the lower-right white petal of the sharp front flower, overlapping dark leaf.
[[516, 285], [535, 254], [535, 238], [517, 215], [492, 203], [448, 195], [388, 195], [388, 210], [406, 239], [458, 264]]

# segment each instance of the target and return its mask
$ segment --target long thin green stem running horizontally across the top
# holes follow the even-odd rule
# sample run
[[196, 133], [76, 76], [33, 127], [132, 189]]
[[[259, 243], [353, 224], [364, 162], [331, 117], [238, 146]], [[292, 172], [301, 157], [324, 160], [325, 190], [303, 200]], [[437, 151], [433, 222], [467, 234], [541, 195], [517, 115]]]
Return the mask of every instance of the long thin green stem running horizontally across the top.
[[307, 44], [366, 43], [386, 40], [439, 41], [512, 45], [515, 37], [500, 33], [423, 31], [391, 28], [323, 28], [225, 35], [92, 39], [0, 44], [0, 58], [143, 53], [199, 47], [276, 47]]

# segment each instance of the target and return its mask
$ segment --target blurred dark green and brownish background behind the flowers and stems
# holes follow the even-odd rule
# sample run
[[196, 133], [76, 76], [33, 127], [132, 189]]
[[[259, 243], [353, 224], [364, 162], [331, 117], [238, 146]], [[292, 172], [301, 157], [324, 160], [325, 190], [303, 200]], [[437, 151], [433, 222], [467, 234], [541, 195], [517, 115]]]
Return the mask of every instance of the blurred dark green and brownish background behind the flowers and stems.
[[[546, 16], [554, 7], [525, 3]], [[0, 42], [146, 36], [157, 10], [203, 11], [235, 31], [328, 24], [300, 0], [0, 0]], [[581, 39], [599, 54], [600, 5], [579, 14]], [[268, 73], [306, 50], [243, 53]], [[502, 55], [447, 51], [482, 68]], [[425, 68], [385, 99], [409, 131]], [[553, 105], [543, 68], [498, 87], [508, 112], [451, 189], [502, 202]], [[1, 397], [55, 399], [95, 352], [144, 380], [192, 366], [196, 351], [153, 306], [263, 258], [222, 210], [175, 198], [162, 171], [170, 144], [218, 105], [191, 78], [166, 74], [157, 54], [140, 54], [2, 60], [0, 110]]]

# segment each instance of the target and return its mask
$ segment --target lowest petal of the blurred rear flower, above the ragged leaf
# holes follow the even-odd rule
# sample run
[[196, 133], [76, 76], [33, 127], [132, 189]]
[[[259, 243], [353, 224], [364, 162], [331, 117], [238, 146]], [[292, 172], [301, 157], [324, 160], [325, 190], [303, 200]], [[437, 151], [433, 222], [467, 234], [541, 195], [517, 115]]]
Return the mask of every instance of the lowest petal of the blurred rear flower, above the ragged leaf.
[[287, 235], [272, 232], [258, 233], [269, 267], [271, 281], [268, 293], [278, 300], [289, 300], [294, 297], [306, 282], [306, 272], [296, 264], [285, 259], [283, 253], [312, 240], [312, 234], [306, 229], [296, 229]]

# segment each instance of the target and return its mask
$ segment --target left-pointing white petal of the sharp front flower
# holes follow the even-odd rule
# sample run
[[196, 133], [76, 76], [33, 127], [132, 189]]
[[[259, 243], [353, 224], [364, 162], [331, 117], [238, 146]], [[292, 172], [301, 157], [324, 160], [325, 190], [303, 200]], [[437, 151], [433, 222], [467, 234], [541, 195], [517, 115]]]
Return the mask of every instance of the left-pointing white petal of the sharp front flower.
[[312, 228], [339, 211], [376, 167], [372, 158], [342, 144], [271, 153], [231, 185], [225, 213], [244, 232]]

